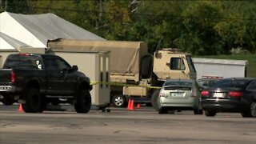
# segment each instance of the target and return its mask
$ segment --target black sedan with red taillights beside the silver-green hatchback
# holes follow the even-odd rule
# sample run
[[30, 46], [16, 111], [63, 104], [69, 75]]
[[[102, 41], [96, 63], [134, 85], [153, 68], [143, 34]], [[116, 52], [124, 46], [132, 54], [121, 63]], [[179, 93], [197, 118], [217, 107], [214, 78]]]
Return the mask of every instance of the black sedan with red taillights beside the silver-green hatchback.
[[256, 78], [224, 78], [201, 94], [206, 116], [238, 112], [256, 118]]

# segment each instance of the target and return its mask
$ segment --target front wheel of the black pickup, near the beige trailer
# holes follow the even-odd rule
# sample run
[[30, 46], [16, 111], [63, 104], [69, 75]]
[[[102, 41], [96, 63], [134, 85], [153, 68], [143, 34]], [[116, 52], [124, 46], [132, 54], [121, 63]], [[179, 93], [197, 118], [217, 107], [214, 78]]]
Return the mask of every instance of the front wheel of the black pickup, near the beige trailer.
[[91, 97], [89, 90], [79, 90], [77, 95], [77, 102], [74, 103], [74, 110], [77, 113], [88, 113], [91, 106]]

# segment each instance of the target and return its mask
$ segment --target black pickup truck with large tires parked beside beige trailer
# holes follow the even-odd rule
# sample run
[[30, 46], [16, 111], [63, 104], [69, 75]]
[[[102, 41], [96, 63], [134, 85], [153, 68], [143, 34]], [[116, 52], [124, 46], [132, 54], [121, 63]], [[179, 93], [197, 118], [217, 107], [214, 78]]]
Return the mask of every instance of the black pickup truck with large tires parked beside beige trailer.
[[90, 90], [90, 78], [57, 55], [10, 54], [0, 69], [1, 102], [22, 103], [26, 113], [42, 112], [47, 103], [70, 103], [88, 113]]

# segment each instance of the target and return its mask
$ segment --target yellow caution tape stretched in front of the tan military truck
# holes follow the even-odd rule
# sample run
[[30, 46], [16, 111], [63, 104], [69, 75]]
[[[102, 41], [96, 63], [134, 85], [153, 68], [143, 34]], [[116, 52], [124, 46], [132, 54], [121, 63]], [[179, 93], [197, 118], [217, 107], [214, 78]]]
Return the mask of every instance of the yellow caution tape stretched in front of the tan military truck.
[[110, 86], [139, 86], [139, 87], [146, 87], [150, 89], [161, 89], [159, 86], [146, 86], [146, 85], [131, 85], [131, 84], [126, 84], [126, 83], [120, 83], [120, 82], [90, 82], [90, 85], [97, 85], [97, 84], [104, 84], [104, 85], [110, 85]]

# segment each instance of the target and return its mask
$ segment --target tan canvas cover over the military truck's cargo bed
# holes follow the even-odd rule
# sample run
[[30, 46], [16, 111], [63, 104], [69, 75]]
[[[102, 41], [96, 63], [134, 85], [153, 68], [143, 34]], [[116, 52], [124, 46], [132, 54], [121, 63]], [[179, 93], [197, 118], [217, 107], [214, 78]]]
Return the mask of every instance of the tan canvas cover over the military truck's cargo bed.
[[90, 41], [74, 39], [49, 40], [50, 50], [110, 51], [111, 74], [139, 74], [140, 61], [148, 54], [146, 42]]

